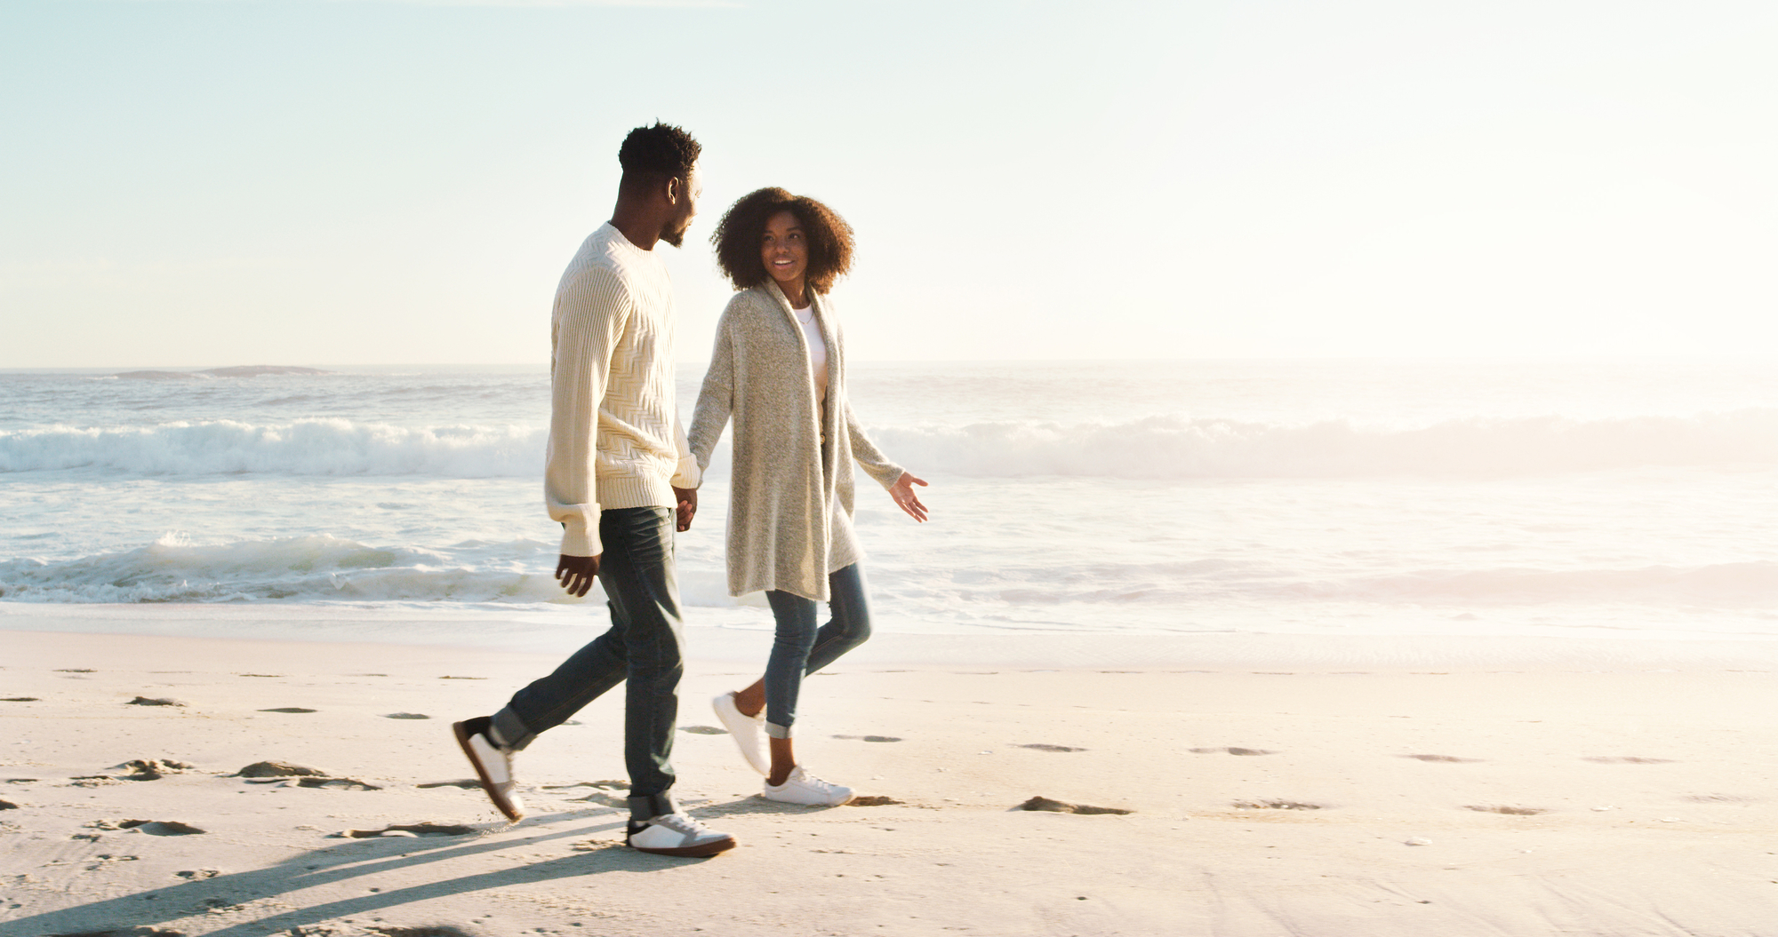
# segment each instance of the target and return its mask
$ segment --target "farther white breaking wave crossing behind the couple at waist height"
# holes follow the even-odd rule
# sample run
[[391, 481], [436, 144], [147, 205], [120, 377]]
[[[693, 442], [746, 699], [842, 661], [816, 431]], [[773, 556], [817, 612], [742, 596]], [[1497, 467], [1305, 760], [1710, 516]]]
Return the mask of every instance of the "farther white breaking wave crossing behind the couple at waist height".
[[[0, 431], [0, 472], [514, 477], [541, 474], [546, 435], [537, 426], [407, 428], [348, 419], [53, 426]], [[889, 426], [873, 435], [907, 465], [974, 477], [1501, 476], [1778, 463], [1778, 408], [1693, 417], [1478, 417], [1419, 428], [1209, 417], [1019, 421]]]

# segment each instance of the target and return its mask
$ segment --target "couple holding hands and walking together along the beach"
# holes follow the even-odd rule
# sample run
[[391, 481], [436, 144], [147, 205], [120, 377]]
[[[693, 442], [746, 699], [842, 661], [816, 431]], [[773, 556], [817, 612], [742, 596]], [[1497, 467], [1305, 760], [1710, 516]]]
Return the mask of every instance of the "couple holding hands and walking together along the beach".
[[[761, 188], [724, 215], [717, 261], [738, 293], [717, 323], [709, 373], [681, 429], [674, 399], [674, 300], [658, 241], [679, 247], [697, 211], [701, 147], [656, 122], [619, 149], [612, 220], [581, 245], [557, 287], [544, 500], [562, 522], [557, 580], [583, 596], [597, 579], [612, 628], [530, 683], [494, 715], [453, 731], [482, 790], [525, 815], [512, 758], [612, 687], [628, 681], [626, 843], [663, 855], [715, 855], [734, 838], [686, 816], [672, 797], [683, 632], [674, 531], [697, 515], [709, 454], [733, 421], [729, 593], [765, 591], [777, 619], [766, 673], [717, 697], [765, 797], [843, 804], [848, 788], [797, 761], [791, 726], [804, 674], [869, 637], [861, 550], [852, 531], [852, 463], [914, 520], [925, 481], [889, 461], [846, 401], [846, 355], [825, 298], [852, 263], [852, 229], [827, 206]], [[816, 628], [816, 605], [832, 619]]]

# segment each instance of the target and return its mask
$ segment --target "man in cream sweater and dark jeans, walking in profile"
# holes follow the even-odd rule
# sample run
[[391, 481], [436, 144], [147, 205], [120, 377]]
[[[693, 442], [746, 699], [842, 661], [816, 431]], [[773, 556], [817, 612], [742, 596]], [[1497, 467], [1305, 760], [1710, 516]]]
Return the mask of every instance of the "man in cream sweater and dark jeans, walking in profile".
[[555, 575], [576, 596], [597, 577], [612, 628], [507, 708], [453, 726], [482, 790], [519, 820], [512, 754], [628, 680], [624, 841], [663, 855], [734, 848], [733, 836], [679, 811], [670, 763], [685, 669], [672, 536], [697, 509], [699, 468], [674, 399], [672, 284], [654, 245], [679, 247], [692, 225], [701, 149], [676, 126], [629, 131], [617, 153], [624, 177], [612, 220], [587, 238], [557, 287], [544, 467], [544, 502], [564, 529]]

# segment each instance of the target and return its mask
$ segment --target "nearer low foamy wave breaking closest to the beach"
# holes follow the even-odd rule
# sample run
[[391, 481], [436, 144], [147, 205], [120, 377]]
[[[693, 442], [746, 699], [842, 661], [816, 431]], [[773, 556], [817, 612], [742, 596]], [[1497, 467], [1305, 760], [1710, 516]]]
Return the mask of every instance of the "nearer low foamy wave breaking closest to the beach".
[[[169, 534], [148, 547], [66, 561], [0, 561], [14, 602], [452, 602], [537, 603], [562, 598], [551, 577], [555, 547], [532, 539], [466, 541], [444, 548], [370, 547], [332, 536], [194, 545]], [[1021, 605], [1191, 609], [1223, 602], [1376, 602], [1506, 607], [1533, 603], [1645, 603], [1760, 609], [1778, 603], [1778, 563], [1689, 568], [1522, 570], [1476, 566], [1394, 575], [1328, 577], [1278, 563], [1189, 561], [1149, 564], [1024, 564], [983, 575], [957, 570], [905, 575], [878, 570], [875, 586], [903, 614], [971, 618]], [[733, 607], [724, 575], [681, 564], [686, 605]], [[594, 600], [599, 600], [594, 596]]]

